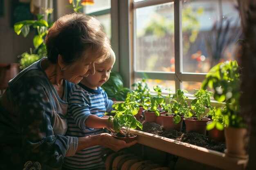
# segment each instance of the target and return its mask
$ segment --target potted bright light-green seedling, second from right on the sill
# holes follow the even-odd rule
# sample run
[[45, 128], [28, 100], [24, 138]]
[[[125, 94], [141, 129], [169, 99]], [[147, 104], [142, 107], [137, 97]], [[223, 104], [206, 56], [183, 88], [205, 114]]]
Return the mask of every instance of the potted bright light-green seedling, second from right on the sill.
[[227, 117], [225, 117], [222, 112], [225, 108], [213, 107], [209, 110], [209, 115], [211, 121], [207, 121], [206, 130], [209, 131], [209, 138], [215, 141], [223, 142], [225, 141], [224, 127], [226, 126]]

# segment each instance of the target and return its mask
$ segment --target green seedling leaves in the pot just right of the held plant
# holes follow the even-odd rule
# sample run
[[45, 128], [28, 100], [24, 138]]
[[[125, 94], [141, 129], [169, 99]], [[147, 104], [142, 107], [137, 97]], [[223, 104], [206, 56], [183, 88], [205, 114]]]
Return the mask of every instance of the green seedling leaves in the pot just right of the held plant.
[[149, 110], [151, 112], [155, 112], [156, 116], [160, 115], [160, 110], [158, 109], [159, 106], [161, 106], [164, 103], [164, 98], [163, 97], [146, 97], [144, 99], [145, 102], [145, 108], [146, 110]]

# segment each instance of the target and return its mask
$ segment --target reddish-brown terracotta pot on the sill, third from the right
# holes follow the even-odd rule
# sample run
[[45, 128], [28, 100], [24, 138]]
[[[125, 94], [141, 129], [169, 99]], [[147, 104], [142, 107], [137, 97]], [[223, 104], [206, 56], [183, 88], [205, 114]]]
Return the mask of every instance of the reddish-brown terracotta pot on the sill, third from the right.
[[206, 134], [206, 122], [209, 121], [209, 118], [202, 118], [198, 120], [196, 117], [185, 118], [186, 132], [197, 132], [202, 135]]

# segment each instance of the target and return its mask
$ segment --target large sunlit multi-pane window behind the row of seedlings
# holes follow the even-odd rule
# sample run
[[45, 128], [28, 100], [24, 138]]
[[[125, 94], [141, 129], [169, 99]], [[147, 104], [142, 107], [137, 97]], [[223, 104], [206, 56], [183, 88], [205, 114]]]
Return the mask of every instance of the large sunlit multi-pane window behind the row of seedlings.
[[[134, 0], [134, 80], [198, 89], [209, 69], [234, 60], [240, 38], [236, 0]], [[153, 90], [153, 89], [152, 89]]]

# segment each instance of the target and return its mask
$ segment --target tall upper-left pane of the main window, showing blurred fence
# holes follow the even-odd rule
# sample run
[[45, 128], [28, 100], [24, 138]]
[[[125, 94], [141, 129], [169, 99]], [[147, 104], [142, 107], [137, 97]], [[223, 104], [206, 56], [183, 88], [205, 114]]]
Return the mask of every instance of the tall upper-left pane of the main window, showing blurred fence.
[[135, 71], [175, 71], [173, 10], [172, 2], [135, 10]]

